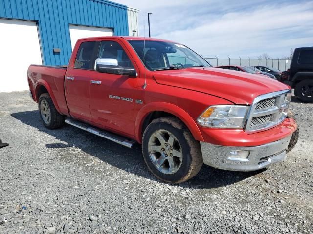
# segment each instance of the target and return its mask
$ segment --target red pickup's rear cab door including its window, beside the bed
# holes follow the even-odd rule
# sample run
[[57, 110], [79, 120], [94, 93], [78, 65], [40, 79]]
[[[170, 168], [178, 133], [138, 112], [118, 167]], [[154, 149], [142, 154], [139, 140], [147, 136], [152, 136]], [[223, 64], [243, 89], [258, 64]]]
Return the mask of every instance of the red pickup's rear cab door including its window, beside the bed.
[[[91, 121], [89, 106], [90, 80], [94, 75], [94, 61], [99, 42], [82, 42], [73, 66], [65, 76], [65, 95], [70, 115], [77, 119]], [[74, 51], [75, 53], [75, 51]]]

